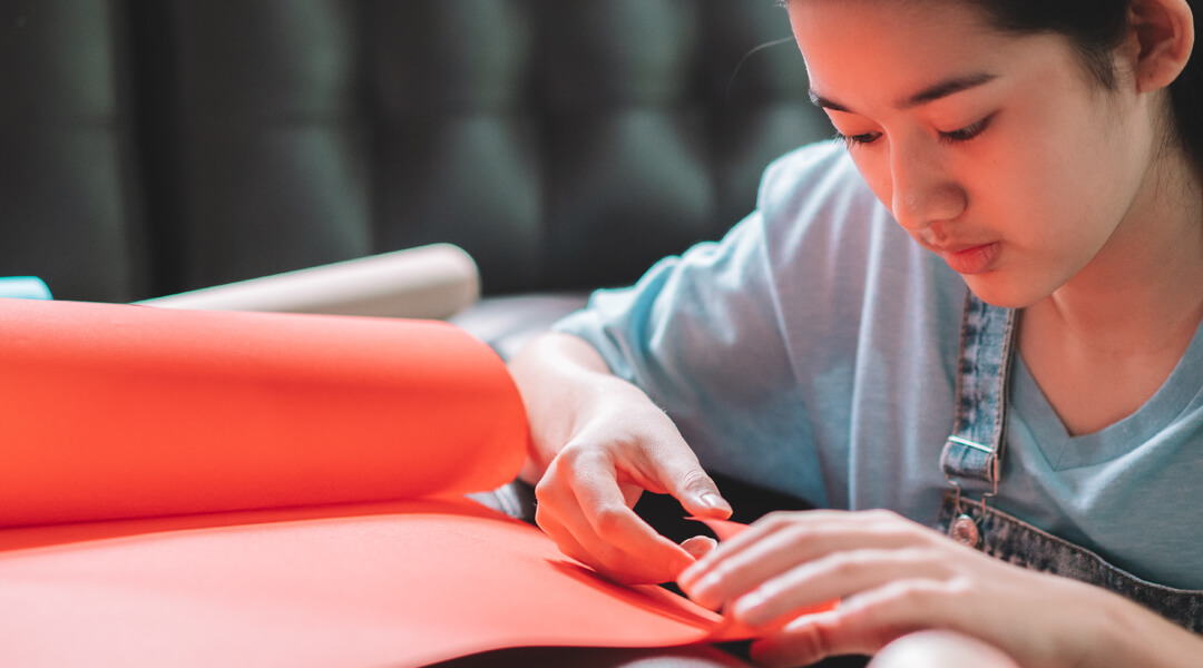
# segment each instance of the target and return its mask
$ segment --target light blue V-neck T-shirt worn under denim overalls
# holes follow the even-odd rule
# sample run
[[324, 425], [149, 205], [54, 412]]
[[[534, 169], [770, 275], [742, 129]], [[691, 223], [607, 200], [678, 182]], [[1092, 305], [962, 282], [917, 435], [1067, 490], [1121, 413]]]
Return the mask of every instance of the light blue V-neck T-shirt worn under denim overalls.
[[[557, 329], [646, 390], [707, 470], [931, 525], [965, 297], [826, 142], [774, 163], [722, 241], [597, 292]], [[1203, 589], [1203, 334], [1144, 407], [1088, 436], [1067, 434], [1017, 359], [1007, 448], [995, 507]]]

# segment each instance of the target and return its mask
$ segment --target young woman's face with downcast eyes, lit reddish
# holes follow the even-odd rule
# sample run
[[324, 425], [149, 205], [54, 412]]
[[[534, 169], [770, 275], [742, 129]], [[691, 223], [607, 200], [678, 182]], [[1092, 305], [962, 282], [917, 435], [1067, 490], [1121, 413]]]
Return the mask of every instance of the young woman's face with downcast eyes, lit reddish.
[[865, 180], [986, 302], [1030, 305], [1115, 255], [1151, 197], [1145, 102], [1060, 35], [997, 31], [958, 0], [790, 0], [789, 17]]

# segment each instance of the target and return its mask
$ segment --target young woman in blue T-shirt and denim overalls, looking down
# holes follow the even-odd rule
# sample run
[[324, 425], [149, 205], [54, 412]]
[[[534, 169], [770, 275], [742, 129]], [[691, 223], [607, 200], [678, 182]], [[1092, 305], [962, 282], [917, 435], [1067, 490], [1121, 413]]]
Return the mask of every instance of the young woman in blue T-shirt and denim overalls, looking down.
[[[1191, 2], [787, 7], [842, 145], [778, 161], [723, 241], [512, 362], [540, 526], [774, 630], [753, 646], [771, 664], [900, 638], [995, 664], [1197, 664]], [[704, 467], [831, 509], [715, 549], [630, 511], [651, 490], [727, 515]]]

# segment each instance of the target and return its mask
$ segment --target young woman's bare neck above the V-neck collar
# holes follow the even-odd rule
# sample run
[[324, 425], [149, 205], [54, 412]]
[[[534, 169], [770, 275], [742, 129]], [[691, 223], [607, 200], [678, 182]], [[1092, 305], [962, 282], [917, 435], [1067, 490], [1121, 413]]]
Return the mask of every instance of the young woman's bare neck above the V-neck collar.
[[1184, 181], [1151, 189], [1085, 269], [1024, 310], [1019, 350], [1069, 434], [1138, 411], [1203, 320], [1203, 189]]

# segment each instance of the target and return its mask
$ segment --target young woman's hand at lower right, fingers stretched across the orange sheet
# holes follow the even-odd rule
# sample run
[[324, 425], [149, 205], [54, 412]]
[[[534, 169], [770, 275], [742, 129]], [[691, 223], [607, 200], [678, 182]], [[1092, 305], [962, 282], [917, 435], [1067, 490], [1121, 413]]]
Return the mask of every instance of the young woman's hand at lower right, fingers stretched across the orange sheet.
[[[753, 658], [770, 666], [871, 655], [923, 630], [978, 638], [1026, 668], [1075, 666], [1103, 644], [1097, 633], [1106, 627], [1096, 620], [1114, 622], [1116, 615], [1102, 614], [1108, 607], [1142, 624], [1161, 620], [1104, 590], [1005, 563], [885, 511], [774, 513], [688, 567], [678, 584], [743, 624], [787, 621], [752, 646]], [[841, 601], [835, 610], [802, 614], [831, 600]]]

